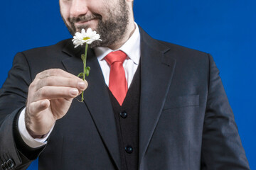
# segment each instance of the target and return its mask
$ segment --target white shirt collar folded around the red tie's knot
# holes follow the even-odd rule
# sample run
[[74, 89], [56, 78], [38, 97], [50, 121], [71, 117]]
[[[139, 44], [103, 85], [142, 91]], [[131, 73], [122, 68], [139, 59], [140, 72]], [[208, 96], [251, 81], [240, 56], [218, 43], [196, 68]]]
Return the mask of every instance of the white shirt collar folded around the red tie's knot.
[[[140, 57], [140, 34], [139, 34], [139, 27], [137, 23], [135, 23], [135, 30], [132, 36], [127, 40], [127, 42], [119, 47], [117, 50], [122, 50], [127, 54], [127, 56], [134, 62], [134, 64], [139, 64], [139, 57]], [[103, 60], [106, 55], [110, 52], [117, 51], [111, 50], [109, 47], [95, 47], [95, 55], [97, 60]]]

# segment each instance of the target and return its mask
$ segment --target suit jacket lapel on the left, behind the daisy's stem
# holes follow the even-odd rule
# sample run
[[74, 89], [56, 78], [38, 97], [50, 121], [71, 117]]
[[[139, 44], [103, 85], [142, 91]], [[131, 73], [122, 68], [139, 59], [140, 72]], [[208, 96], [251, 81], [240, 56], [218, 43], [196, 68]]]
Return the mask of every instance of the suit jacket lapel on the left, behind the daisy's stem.
[[[63, 60], [63, 65], [68, 72], [78, 75], [82, 72], [82, 60], [80, 55], [83, 50], [70, 49], [73, 45], [67, 45], [63, 52], [71, 57]], [[110, 96], [107, 91], [104, 77], [100, 69], [100, 64], [92, 50], [88, 50], [87, 66], [91, 67], [89, 77], [85, 79], [88, 82], [88, 88], [85, 90], [84, 98], [85, 105], [92, 115], [92, 119], [97, 127], [97, 130], [102, 137], [105, 146], [107, 147], [112, 159], [118, 169], [121, 167], [119, 144], [117, 139], [117, 129], [114, 121], [114, 113]]]

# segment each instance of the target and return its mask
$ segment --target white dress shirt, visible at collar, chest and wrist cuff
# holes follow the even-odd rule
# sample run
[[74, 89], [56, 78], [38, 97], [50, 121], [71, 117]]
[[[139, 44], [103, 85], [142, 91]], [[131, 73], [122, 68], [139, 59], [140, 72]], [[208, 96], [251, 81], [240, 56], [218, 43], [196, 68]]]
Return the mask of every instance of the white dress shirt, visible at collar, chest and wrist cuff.
[[[122, 47], [117, 49], [122, 50], [124, 53], [127, 54], [127, 58], [126, 60], [124, 60], [123, 67], [125, 77], [127, 79], [128, 88], [131, 85], [134, 74], [139, 66], [139, 59], [141, 55], [139, 27], [137, 26], [137, 23], [134, 24], [136, 28], [132, 36], [127, 40], [127, 42], [124, 43], [124, 45], [122, 45]], [[111, 50], [108, 47], [95, 48], [95, 55], [100, 64], [100, 68], [102, 69], [102, 74], [107, 86], [109, 85], [110, 80], [110, 65], [107, 64], [106, 60], [104, 60], [104, 57], [112, 51], [116, 50]], [[93, 72], [93, 70], [91, 72]], [[25, 110], [26, 108], [24, 108], [23, 111], [21, 111], [21, 114], [18, 118], [18, 131], [21, 134], [23, 141], [26, 143], [26, 145], [33, 148], [46, 145], [47, 139], [50, 135], [50, 132], [52, 132], [53, 128], [51, 128], [50, 132], [48, 132], [48, 135], [46, 135], [46, 137], [41, 139], [34, 139], [33, 137], [31, 137], [31, 135], [29, 135], [28, 130], [26, 130]]]

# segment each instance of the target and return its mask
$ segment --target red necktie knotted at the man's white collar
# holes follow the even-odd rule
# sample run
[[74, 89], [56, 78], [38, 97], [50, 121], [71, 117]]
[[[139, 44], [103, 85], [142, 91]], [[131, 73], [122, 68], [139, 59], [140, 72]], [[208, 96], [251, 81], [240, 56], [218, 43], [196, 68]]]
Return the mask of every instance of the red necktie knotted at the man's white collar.
[[125, 78], [124, 67], [122, 66], [127, 55], [122, 51], [110, 52], [105, 60], [110, 64], [110, 83], [109, 88], [120, 106], [127, 94], [127, 80]]

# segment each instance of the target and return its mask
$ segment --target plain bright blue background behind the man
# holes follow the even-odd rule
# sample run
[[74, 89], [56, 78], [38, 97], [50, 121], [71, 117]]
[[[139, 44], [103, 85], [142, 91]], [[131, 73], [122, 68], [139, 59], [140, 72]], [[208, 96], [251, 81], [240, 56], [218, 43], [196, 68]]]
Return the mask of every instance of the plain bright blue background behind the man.
[[[1, 4], [0, 85], [16, 52], [71, 37], [60, 17], [57, 0], [14, 0]], [[256, 169], [255, 6], [255, 0], [134, 2], [135, 21], [153, 38], [213, 55], [251, 169]], [[38, 162], [33, 162], [29, 169], [37, 166]]]

